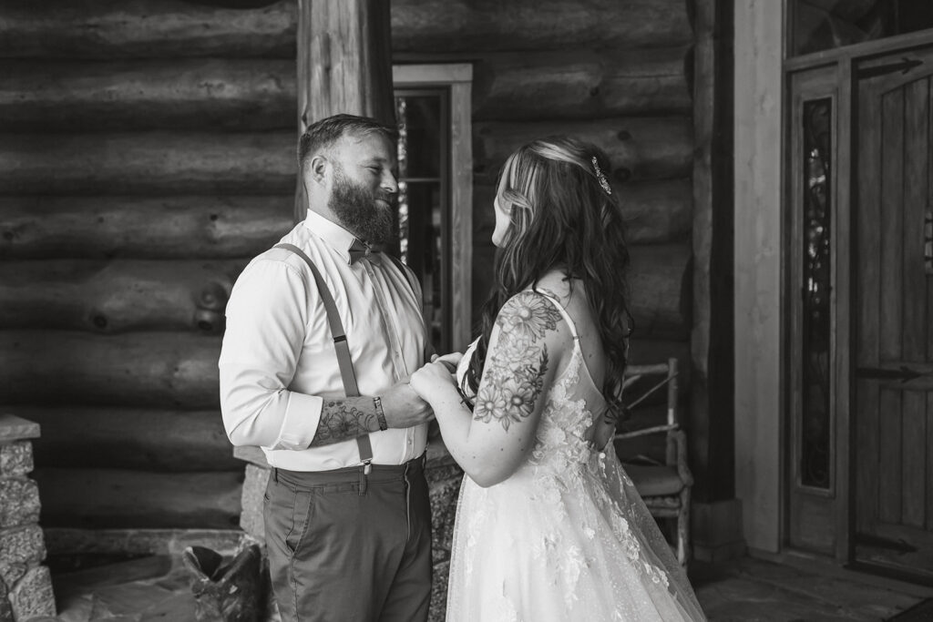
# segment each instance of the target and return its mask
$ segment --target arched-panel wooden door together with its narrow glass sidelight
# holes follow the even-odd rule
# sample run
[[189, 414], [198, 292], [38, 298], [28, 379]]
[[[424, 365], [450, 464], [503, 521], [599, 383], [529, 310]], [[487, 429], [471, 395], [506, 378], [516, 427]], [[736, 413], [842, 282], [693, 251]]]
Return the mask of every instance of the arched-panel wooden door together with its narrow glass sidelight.
[[933, 584], [933, 33], [787, 65], [785, 540]]

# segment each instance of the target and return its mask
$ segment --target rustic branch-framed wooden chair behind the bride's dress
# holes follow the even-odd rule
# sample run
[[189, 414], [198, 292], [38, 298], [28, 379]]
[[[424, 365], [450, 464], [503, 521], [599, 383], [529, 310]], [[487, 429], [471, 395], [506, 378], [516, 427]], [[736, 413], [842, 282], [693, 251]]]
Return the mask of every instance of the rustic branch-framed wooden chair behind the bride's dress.
[[[615, 440], [618, 442], [645, 435], [666, 435], [663, 463], [639, 455], [635, 459], [623, 460], [622, 466], [629, 477], [632, 477], [635, 488], [645, 500], [645, 505], [648, 505], [653, 517], [676, 519], [677, 560], [686, 566], [690, 551], [690, 487], [693, 485], [693, 476], [687, 465], [687, 435], [680, 429], [677, 420], [677, 360], [672, 358], [660, 365], [628, 366], [625, 370], [623, 389], [641, 384], [643, 379], [651, 377], [660, 380], [651, 384], [638, 397], [627, 399], [626, 408], [631, 410], [648, 395], [666, 388], [667, 421], [631, 432], [620, 432], [615, 435]], [[621, 426], [624, 426], [624, 422], [620, 423]]]

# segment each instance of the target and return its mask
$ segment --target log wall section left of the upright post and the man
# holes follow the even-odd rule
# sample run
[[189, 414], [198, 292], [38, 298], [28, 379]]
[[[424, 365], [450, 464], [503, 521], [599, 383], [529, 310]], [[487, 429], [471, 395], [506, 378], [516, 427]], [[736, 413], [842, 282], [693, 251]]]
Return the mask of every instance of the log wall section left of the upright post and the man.
[[291, 227], [294, 50], [290, 2], [0, 7], [0, 404], [44, 527], [237, 526], [216, 361]]

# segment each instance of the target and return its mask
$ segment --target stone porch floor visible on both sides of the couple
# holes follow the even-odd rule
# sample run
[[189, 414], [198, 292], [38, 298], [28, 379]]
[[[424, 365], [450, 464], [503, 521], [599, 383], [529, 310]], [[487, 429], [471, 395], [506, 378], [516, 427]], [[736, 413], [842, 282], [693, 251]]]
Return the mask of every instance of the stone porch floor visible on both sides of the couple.
[[[743, 558], [695, 562], [691, 580], [710, 620], [819, 622], [886, 620], [933, 589], [867, 574]], [[153, 556], [53, 576], [60, 614], [44, 622], [194, 622], [194, 599], [181, 561]], [[35, 622], [38, 622], [37, 620]]]

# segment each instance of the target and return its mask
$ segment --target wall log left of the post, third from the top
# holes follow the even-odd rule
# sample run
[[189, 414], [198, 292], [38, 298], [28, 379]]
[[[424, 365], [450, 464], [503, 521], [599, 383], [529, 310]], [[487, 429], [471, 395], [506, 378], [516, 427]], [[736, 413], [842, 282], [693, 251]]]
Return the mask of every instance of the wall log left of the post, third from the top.
[[288, 194], [294, 131], [0, 135], [0, 194]]

